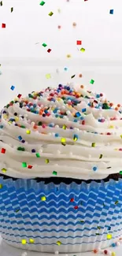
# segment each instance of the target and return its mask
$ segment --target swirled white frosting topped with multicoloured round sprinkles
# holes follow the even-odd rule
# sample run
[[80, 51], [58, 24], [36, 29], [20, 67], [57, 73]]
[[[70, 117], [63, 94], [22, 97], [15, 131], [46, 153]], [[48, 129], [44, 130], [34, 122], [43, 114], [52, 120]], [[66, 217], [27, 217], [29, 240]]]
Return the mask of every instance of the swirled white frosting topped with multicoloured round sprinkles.
[[89, 180], [122, 170], [122, 108], [83, 86], [18, 95], [2, 109], [0, 128], [7, 176]]

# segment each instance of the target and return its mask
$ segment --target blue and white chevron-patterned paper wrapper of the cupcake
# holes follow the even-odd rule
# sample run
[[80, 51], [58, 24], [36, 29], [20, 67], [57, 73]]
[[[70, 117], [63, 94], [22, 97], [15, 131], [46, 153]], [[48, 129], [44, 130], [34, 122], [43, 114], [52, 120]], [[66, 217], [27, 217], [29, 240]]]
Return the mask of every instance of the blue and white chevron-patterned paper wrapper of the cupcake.
[[122, 180], [55, 185], [1, 177], [0, 232], [24, 250], [109, 247], [122, 234]]

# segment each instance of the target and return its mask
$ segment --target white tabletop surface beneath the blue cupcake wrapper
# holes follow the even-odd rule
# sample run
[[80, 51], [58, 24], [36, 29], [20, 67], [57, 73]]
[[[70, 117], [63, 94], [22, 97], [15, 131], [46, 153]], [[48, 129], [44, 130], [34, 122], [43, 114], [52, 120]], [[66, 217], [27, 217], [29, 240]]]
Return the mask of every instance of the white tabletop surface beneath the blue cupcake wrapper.
[[[108, 249], [107, 249], [108, 250]], [[116, 252], [116, 256], [121, 256], [122, 245], [120, 247], [110, 247], [109, 250]], [[10, 247], [8, 244], [4, 243], [0, 236], [0, 255], [1, 256], [24, 256], [25, 250], [20, 250], [14, 247]], [[28, 251], [27, 256], [56, 256], [58, 254], [46, 254], [46, 253], [36, 253], [34, 251]], [[93, 252], [81, 253], [81, 254], [60, 254], [61, 256], [93, 256], [102, 254], [93, 254]]]

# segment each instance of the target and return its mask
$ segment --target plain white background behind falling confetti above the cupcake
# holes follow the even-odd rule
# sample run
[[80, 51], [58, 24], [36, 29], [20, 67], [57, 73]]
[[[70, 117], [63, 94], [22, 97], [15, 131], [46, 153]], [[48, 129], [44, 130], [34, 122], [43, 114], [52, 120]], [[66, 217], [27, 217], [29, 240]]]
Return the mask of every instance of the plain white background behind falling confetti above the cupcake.
[[[111, 101], [121, 102], [121, 0], [45, 0], [44, 6], [40, 2], [2, 0], [0, 107], [18, 93], [25, 95], [67, 82], [85, 84], [91, 90], [105, 92]], [[114, 9], [114, 13], [109, 14], [109, 9]], [[52, 17], [48, 15], [50, 11], [54, 13]], [[2, 23], [6, 28], [2, 28]], [[79, 50], [81, 46], [76, 46], [76, 40], [82, 40], [84, 53]], [[47, 44], [46, 48], [42, 43]], [[50, 54], [48, 48], [52, 49]], [[51, 76], [48, 80], [47, 73]], [[83, 78], [79, 78], [79, 73]], [[72, 75], [75, 78], [71, 79]], [[15, 86], [14, 91], [10, 90], [11, 85]]]

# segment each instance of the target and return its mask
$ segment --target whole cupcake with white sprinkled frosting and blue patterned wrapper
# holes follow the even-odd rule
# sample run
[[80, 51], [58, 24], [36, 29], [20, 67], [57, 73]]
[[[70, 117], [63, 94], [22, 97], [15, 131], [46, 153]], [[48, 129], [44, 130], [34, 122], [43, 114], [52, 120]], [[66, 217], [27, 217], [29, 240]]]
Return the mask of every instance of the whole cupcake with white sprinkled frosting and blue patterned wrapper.
[[68, 85], [2, 109], [0, 232], [13, 247], [78, 253], [122, 235], [122, 109]]

